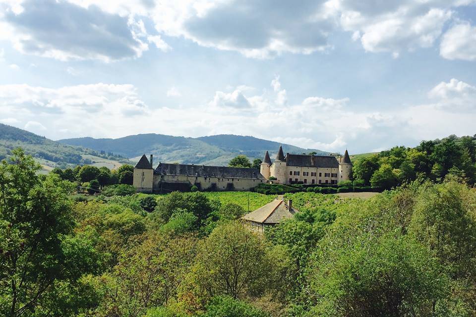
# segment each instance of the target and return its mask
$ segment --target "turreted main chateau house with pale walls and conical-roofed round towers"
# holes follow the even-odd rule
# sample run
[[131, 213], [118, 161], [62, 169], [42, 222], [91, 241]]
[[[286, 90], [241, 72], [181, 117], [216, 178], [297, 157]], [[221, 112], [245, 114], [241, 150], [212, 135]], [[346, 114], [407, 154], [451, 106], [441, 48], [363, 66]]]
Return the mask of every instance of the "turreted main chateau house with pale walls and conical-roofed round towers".
[[350, 180], [352, 162], [349, 153], [342, 157], [287, 154], [282, 147], [274, 162], [268, 152], [260, 166], [265, 178], [275, 177], [281, 184], [337, 184]]

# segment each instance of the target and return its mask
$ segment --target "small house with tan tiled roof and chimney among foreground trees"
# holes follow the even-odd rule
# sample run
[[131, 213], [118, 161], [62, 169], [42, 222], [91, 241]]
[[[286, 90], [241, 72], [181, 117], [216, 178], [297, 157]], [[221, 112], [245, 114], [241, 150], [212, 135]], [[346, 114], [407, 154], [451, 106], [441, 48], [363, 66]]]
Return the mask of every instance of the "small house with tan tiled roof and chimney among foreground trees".
[[245, 214], [241, 219], [251, 229], [263, 232], [266, 227], [274, 226], [285, 219], [292, 218], [296, 212], [298, 211], [293, 208], [291, 199], [287, 203], [282, 199], [275, 199], [271, 203]]

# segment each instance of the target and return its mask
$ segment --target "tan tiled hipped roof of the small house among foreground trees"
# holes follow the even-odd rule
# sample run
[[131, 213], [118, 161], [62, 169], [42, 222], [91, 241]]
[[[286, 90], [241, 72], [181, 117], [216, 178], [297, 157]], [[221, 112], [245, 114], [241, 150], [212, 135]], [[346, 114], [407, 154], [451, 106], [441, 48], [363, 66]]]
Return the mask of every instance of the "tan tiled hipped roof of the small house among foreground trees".
[[298, 212], [296, 208], [292, 208], [292, 212], [290, 212], [284, 200], [276, 199], [255, 211], [245, 214], [241, 219], [259, 223], [276, 224], [280, 223], [283, 219], [292, 218], [296, 212]]

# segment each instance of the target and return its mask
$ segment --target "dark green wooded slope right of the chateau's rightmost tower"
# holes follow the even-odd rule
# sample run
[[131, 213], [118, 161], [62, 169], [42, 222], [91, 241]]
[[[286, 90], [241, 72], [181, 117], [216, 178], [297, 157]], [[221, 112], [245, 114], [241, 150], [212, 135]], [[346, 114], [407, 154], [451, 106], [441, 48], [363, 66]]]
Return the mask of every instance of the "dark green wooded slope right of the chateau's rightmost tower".
[[394, 147], [354, 160], [354, 183], [390, 189], [416, 179], [441, 182], [453, 174], [476, 183], [476, 137], [455, 135], [422, 141], [416, 148]]

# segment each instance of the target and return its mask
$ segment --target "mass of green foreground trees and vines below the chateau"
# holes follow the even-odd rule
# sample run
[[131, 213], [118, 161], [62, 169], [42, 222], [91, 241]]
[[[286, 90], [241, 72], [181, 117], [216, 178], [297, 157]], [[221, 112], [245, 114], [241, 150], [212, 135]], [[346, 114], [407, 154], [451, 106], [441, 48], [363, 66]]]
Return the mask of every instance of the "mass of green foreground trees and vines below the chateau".
[[476, 191], [456, 174], [286, 194], [299, 212], [262, 235], [237, 219], [274, 195], [71, 196], [39, 168], [20, 150], [0, 164], [0, 316], [476, 314]]

